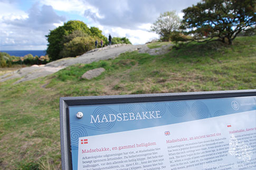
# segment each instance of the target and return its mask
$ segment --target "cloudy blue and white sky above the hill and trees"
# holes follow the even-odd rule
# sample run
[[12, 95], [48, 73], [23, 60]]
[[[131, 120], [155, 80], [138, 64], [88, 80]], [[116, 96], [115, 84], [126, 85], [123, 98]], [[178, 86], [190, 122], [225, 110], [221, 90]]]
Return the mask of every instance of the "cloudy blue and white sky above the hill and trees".
[[45, 35], [70, 20], [96, 26], [102, 34], [127, 37], [132, 44], [159, 38], [150, 26], [161, 13], [200, 0], [0, 0], [0, 51], [45, 50]]

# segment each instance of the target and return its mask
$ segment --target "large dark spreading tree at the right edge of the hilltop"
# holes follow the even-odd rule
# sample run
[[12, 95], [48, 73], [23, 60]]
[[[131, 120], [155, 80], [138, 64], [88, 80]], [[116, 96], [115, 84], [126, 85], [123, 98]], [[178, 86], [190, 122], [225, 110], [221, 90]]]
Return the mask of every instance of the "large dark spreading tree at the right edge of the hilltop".
[[[225, 42], [232, 44], [242, 31], [255, 26], [254, 0], [203, 0], [197, 5], [183, 9], [182, 28], [194, 36], [194, 41], [207, 37], [205, 41]], [[215, 40], [214, 40], [215, 41]]]

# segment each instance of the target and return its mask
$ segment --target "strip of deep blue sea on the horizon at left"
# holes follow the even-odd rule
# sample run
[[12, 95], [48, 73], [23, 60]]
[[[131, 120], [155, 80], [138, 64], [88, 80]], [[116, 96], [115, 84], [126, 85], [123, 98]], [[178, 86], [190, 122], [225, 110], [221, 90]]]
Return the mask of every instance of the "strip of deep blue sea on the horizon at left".
[[0, 52], [5, 52], [8, 53], [9, 55], [14, 55], [17, 57], [23, 57], [27, 54], [32, 54], [33, 56], [42, 56], [42, 55], [46, 55], [46, 51], [45, 50], [20, 50], [20, 51], [0, 51]]

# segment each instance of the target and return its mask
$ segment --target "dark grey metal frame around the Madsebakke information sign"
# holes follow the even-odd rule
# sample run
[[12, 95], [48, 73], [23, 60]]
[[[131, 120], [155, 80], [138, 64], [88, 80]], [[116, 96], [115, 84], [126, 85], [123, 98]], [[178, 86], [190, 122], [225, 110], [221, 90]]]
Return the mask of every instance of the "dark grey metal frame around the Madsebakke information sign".
[[61, 161], [62, 169], [72, 169], [71, 145], [69, 131], [69, 106], [122, 104], [141, 102], [181, 101], [189, 99], [210, 99], [225, 97], [256, 96], [256, 89], [239, 91], [213, 91], [191, 93], [163, 93], [141, 95], [115, 95], [115, 96], [85, 96], [60, 98], [60, 135], [61, 135]]

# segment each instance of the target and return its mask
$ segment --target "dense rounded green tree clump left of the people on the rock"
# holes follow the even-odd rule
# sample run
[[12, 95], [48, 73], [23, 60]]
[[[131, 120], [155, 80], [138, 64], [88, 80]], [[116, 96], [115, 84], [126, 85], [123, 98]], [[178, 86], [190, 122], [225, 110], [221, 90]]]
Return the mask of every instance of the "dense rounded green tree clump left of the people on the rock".
[[[59, 26], [58, 28], [53, 29], [50, 31], [49, 35], [46, 35], [48, 38], [48, 48], [46, 53], [49, 55], [51, 61], [56, 59], [60, 59], [63, 57], [71, 57], [77, 56], [78, 54], [83, 54], [90, 49], [90, 47], [84, 46], [83, 48], [74, 48], [74, 44], [80, 44], [81, 42], [92, 41], [93, 43], [98, 40], [102, 39], [102, 41], [106, 44], [107, 37], [102, 35], [102, 31], [100, 31], [97, 27], [88, 28], [86, 24], [81, 21], [68, 21], [64, 23], [63, 26]], [[78, 38], [80, 37], [80, 38]], [[92, 39], [94, 37], [94, 40]], [[81, 42], [79, 42], [79, 41]], [[91, 44], [91, 43], [89, 43]], [[68, 49], [72, 51], [68, 52]], [[74, 49], [77, 49], [78, 52], [75, 52]], [[81, 49], [85, 51], [81, 52]]]

